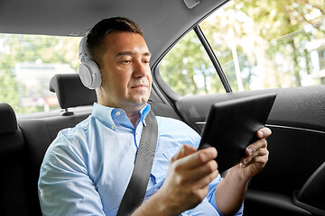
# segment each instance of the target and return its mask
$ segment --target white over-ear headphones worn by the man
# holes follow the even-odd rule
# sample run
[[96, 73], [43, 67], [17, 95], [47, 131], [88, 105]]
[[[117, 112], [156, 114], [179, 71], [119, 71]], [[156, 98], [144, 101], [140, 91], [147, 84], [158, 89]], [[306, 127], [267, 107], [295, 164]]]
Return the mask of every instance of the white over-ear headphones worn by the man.
[[89, 59], [87, 36], [83, 37], [79, 43], [79, 59], [81, 63], [79, 65], [78, 72], [82, 84], [89, 89], [98, 88], [101, 85], [102, 78], [98, 64]]

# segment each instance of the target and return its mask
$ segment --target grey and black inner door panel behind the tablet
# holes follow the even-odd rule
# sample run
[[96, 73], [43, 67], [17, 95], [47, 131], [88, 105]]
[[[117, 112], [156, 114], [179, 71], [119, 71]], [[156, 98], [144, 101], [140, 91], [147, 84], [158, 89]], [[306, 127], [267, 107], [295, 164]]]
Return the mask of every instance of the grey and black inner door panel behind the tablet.
[[185, 96], [175, 107], [201, 132], [213, 103], [269, 92], [277, 93], [266, 125], [273, 131], [267, 139], [270, 157], [249, 184], [246, 215], [311, 215], [293, 202], [293, 194], [325, 161], [325, 85]]

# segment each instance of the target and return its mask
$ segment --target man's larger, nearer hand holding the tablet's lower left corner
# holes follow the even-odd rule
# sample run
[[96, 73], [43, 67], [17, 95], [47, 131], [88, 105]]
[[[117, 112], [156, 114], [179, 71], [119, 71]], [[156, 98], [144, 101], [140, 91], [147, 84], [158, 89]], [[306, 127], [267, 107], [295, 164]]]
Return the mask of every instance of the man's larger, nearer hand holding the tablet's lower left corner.
[[179, 215], [202, 202], [209, 192], [209, 183], [218, 176], [215, 157], [216, 148], [196, 151], [186, 144], [172, 157], [163, 186], [157, 192], [163, 197], [166, 215]]

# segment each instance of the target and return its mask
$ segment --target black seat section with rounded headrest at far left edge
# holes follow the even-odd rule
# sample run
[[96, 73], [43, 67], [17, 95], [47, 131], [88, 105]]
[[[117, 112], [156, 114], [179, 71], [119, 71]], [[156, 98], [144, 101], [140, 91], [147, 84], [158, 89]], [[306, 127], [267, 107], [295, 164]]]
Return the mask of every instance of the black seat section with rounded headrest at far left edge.
[[29, 215], [24, 142], [13, 108], [0, 103], [0, 214]]

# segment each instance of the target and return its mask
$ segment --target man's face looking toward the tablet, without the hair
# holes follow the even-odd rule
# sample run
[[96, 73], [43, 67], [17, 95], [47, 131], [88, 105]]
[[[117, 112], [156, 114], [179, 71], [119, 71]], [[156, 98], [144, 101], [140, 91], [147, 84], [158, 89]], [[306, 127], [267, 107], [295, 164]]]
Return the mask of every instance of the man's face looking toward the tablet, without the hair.
[[[117, 31], [104, 38], [101, 94], [98, 103], [124, 109], [139, 109], [147, 103], [152, 85], [151, 54], [137, 33]], [[101, 98], [100, 98], [101, 97]]]

